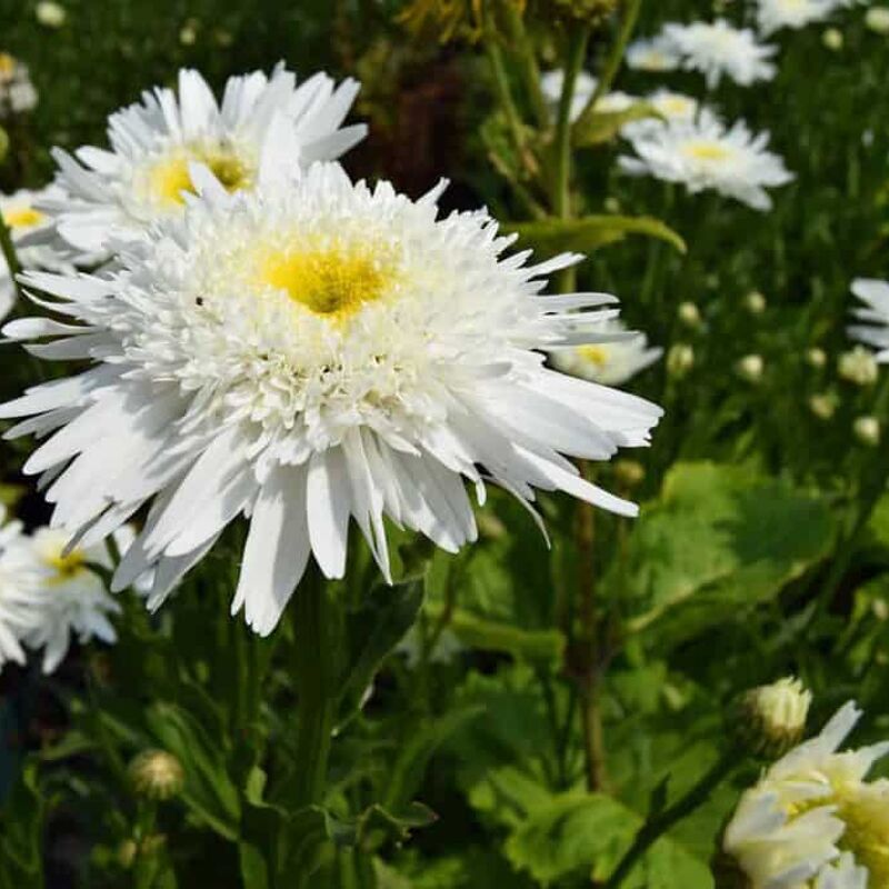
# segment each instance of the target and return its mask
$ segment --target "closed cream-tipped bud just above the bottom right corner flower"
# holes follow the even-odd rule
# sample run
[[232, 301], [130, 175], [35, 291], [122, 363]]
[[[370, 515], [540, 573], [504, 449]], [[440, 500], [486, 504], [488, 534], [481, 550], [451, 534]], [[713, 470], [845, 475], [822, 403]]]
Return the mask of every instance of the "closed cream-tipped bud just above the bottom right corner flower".
[[811, 692], [792, 676], [751, 689], [738, 706], [739, 740], [756, 756], [783, 756], [802, 739], [811, 700]]

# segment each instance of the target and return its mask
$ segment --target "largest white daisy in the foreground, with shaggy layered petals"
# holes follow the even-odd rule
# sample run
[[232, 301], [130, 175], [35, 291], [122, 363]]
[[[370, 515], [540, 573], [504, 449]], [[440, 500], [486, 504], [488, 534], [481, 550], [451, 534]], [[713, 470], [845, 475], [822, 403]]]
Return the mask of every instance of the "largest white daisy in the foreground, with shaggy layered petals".
[[529, 266], [485, 212], [438, 219], [440, 188], [414, 202], [337, 164], [233, 194], [193, 174], [200, 198], [112, 276], [27, 276], [64, 324], [4, 328], [52, 338], [38, 356], [93, 360], [0, 417], [32, 418], [12, 437], [53, 432], [26, 471], [81, 546], [151, 503], [113, 588], [154, 568], [159, 606], [244, 513], [232, 610], [268, 633], [310, 556], [343, 576], [352, 519], [387, 578], [384, 517], [449, 551], [475, 540], [466, 481], [481, 499], [491, 481], [527, 503], [561, 490], [636, 513], [562, 456], [645, 446], [661, 413], [545, 366], [617, 313], [608, 296], [541, 296], [581, 257]]

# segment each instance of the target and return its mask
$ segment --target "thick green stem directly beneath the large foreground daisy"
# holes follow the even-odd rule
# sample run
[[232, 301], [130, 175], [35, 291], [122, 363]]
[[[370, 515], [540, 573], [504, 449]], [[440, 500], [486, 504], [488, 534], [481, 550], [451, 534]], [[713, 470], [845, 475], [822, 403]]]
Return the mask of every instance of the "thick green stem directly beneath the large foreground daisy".
[[291, 803], [312, 806], [323, 799], [330, 735], [336, 718], [333, 619], [328, 590], [318, 571], [307, 572], [291, 606], [294, 620], [293, 677], [297, 702], [297, 755]]

